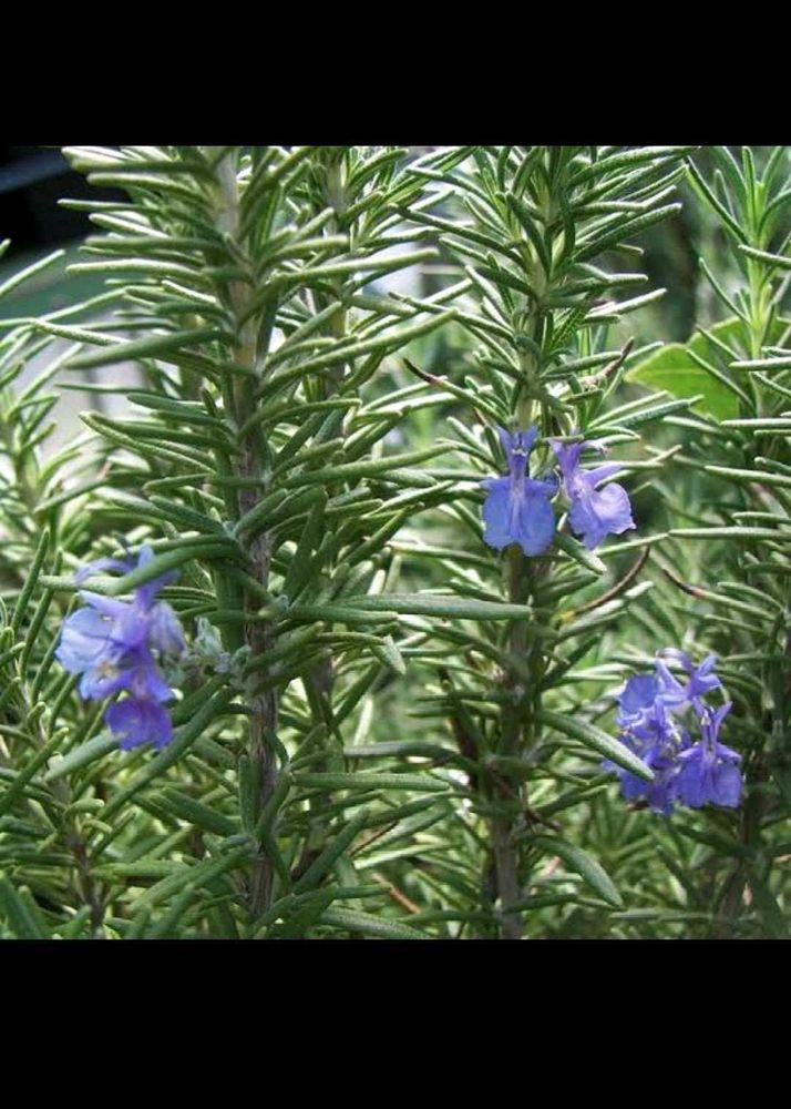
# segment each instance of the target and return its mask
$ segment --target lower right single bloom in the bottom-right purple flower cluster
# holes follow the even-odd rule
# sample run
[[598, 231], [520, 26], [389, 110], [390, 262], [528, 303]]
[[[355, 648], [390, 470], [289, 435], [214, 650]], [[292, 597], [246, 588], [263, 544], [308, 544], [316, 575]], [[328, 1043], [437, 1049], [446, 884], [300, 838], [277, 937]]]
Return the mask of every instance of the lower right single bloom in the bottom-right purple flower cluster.
[[741, 800], [741, 755], [717, 739], [731, 709], [727, 701], [716, 712], [705, 710], [700, 721], [702, 739], [679, 755], [678, 796], [690, 808], [710, 803], [738, 808]]

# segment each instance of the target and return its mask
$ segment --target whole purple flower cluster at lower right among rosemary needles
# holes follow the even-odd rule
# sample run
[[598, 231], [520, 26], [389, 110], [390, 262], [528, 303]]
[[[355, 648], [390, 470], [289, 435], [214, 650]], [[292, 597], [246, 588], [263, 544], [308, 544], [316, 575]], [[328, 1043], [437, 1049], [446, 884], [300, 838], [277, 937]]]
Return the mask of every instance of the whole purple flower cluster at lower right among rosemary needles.
[[[676, 802], [690, 808], [706, 804], [736, 808], [741, 800], [741, 755], [718, 739], [731, 702], [712, 709], [703, 700], [721, 688], [713, 672], [716, 659], [710, 654], [696, 667], [682, 651], [668, 648], [661, 653], [681, 664], [686, 682], [657, 660], [655, 674], [638, 674], [627, 681], [618, 698], [617, 715], [622, 743], [654, 771], [654, 781], [646, 782], [609, 761], [604, 766], [619, 776], [627, 800], [646, 801], [665, 815]], [[689, 709], [700, 732], [697, 742], [682, 723]]]

